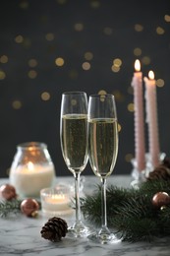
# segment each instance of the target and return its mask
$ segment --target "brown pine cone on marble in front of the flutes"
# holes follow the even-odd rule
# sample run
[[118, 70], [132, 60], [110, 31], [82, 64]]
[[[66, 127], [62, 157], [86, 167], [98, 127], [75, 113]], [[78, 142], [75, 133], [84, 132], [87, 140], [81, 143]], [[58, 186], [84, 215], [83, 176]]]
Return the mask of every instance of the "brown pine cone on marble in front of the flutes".
[[40, 233], [44, 239], [48, 239], [52, 242], [58, 242], [62, 237], [66, 236], [68, 231], [67, 228], [68, 225], [63, 219], [53, 217], [49, 219], [44, 226], [42, 226]]

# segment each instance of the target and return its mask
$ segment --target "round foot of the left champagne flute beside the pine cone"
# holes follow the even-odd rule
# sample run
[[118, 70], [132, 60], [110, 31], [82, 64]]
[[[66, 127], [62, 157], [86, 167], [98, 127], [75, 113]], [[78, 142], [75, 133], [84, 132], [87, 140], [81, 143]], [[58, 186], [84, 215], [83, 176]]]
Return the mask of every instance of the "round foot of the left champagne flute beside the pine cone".
[[76, 223], [73, 226], [70, 226], [68, 228], [67, 235], [73, 236], [73, 237], [87, 237], [92, 232], [93, 230], [91, 229], [91, 227], [81, 222], [79, 224]]

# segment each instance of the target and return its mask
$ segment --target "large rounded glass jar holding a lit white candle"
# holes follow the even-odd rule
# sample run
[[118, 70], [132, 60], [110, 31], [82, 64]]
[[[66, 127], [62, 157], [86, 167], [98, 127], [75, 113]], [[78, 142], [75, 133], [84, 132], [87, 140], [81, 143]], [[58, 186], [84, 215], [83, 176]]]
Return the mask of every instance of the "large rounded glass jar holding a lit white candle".
[[10, 169], [10, 183], [21, 197], [39, 197], [40, 190], [52, 185], [54, 164], [44, 143], [28, 142], [17, 146]]

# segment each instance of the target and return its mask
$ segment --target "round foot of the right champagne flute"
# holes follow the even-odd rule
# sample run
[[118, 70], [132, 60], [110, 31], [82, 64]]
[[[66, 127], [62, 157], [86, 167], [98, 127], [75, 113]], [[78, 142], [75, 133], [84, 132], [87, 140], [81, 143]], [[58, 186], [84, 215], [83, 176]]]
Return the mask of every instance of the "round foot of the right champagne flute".
[[87, 238], [95, 243], [100, 244], [111, 244], [111, 243], [119, 243], [121, 242], [121, 239], [116, 237], [114, 233], [92, 233], [87, 236]]

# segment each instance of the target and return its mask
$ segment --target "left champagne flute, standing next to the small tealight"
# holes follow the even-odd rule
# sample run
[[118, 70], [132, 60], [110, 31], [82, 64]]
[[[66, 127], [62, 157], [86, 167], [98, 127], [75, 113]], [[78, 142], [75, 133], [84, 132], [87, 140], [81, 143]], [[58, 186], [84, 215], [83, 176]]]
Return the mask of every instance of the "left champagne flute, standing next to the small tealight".
[[63, 158], [75, 177], [76, 222], [69, 233], [76, 237], [89, 234], [81, 218], [80, 175], [85, 169], [87, 155], [87, 98], [84, 92], [62, 94], [60, 139]]

